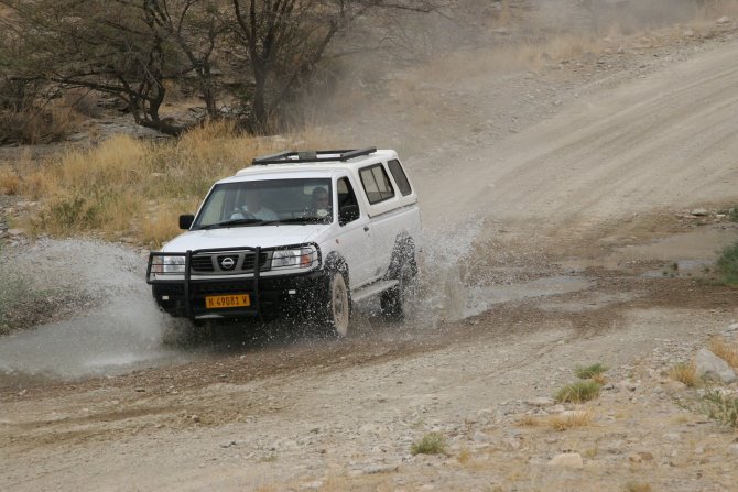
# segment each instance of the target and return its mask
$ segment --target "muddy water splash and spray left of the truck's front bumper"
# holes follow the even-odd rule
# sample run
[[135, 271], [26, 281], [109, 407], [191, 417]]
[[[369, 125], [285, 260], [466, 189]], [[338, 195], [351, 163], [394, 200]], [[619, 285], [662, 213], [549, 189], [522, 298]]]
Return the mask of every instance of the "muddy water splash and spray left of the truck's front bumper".
[[141, 254], [109, 243], [45, 239], [11, 253], [6, 264], [36, 291], [73, 289], [98, 307], [82, 303], [79, 316], [4, 337], [0, 379], [78, 379], [186, 357], [162, 343], [167, 318], [143, 282]]

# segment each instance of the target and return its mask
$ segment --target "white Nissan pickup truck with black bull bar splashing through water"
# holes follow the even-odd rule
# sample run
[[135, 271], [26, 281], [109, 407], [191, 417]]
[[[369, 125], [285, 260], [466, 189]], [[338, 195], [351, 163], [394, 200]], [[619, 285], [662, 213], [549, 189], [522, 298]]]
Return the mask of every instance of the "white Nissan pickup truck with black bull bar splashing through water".
[[293, 317], [337, 336], [351, 303], [402, 318], [417, 274], [417, 195], [391, 150], [284, 152], [217, 182], [146, 282], [175, 317]]

